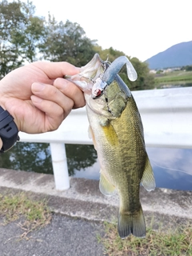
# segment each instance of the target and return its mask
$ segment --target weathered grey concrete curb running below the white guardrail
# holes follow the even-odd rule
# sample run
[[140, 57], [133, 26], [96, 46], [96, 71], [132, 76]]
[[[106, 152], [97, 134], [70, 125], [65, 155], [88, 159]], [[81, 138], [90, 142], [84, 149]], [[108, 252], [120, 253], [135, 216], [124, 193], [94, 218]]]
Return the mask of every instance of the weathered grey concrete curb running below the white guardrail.
[[[113, 221], [118, 216], [118, 196], [105, 197], [98, 189], [98, 181], [70, 178], [70, 189], [54, 189], [54, 175], [0, 169], [2, 191], [26, 191], [35, 198], [48, 198], [55, 213], [90, 221]], [[192, 222], [192, 191], [156, 189], [140, 190], [142, 208], [146, 218], [171, 222], [172, 218]]]

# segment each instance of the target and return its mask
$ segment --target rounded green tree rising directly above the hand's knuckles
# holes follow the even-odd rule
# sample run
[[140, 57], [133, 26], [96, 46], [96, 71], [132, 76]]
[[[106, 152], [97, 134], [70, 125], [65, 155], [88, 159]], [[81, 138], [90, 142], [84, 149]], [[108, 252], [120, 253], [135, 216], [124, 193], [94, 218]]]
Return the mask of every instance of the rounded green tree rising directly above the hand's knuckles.
[[57, 22], [49, 15], [46, 35], [41, 52], [47, 60], [84, 66], [94, 56], [94, 41], [86, 37], [85, 31], [76, 22]]

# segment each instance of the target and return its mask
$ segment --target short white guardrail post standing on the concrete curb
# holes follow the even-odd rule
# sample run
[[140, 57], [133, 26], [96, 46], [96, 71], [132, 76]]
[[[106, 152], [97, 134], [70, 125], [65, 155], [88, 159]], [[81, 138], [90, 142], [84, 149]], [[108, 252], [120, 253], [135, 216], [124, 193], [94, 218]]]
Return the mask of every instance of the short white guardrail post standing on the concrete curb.
[[68, 190], [70, 179], [66, 162], [66, 147], [64, 143], [50, 143], [51, 158], [54, 170], [56, 190]]

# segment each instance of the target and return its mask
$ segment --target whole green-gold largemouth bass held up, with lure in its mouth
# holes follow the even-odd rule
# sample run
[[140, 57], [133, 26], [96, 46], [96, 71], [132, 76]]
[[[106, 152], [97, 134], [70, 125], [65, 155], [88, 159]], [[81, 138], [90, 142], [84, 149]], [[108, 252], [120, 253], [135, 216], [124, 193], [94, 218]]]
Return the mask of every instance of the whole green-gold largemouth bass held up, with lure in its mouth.
[[74, 76], [66, 76], [85, 94], [90, 134], [101, 166], [102, 194], [119, 196], [118, 234], [145, 237], [146, 224], [139, 200], [140, 184], [154, 190], [155, 181], [146, 153], [142, 120], [129, 88], [118, 76], [126, 64], [128, 77], [137, 73], [125, 57], [112, 64], [98, 54]]

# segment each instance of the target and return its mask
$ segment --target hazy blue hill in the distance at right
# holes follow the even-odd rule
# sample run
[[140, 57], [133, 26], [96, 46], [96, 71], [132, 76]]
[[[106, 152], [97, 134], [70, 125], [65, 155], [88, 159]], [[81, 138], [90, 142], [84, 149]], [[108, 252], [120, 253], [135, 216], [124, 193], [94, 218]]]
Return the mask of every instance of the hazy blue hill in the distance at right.
[[148, 58], [150, 70], [192, 65], [192, 41], [180, 42]]

